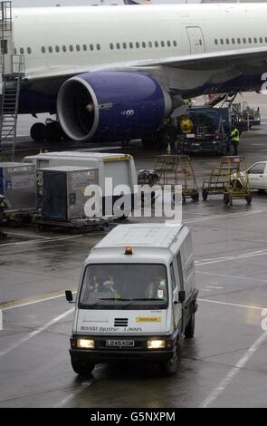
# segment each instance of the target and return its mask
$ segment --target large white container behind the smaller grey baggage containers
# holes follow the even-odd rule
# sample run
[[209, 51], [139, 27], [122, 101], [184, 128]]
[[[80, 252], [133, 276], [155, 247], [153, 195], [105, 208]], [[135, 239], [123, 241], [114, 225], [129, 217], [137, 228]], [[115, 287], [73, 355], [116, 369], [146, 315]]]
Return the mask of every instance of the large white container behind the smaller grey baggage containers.
[[119, 216], [119, 212], [114, 211], [113, 207], [121, 197], [119, 189], [121, 185], [129, 188], [129, 194], [125, 198], [129, 212], [133, 207], [138, 181], [135, 162], [130, 155], [78, 151], [47, 152], [25, 157], [24, 162], [34, 163], [36, 169], [56, 166], [98, 169], [99, 185], [103, 195], [103, 215], [114, 213]]

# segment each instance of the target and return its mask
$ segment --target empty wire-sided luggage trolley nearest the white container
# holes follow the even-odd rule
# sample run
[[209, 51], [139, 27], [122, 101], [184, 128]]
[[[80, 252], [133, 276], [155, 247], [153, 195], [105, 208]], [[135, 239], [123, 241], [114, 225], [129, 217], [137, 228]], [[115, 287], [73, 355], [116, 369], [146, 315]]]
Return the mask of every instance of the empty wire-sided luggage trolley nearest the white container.
[[198, 201], [195, 171], [188, 155], [160, 155], [156, 160], [155, 171], [159, 185], [182, 185], [183, 201], [186, 202], [186, 198]]

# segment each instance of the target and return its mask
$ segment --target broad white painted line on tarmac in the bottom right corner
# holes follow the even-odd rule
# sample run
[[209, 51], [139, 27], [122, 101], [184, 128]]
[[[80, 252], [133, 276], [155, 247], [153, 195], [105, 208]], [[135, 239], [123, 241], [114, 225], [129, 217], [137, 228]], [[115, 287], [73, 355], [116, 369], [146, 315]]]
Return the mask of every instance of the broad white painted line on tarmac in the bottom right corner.
[[218, 397], [225, 391], [231, 382], [233, 382], [234, 377], [240, 373], [240, 371], [250, 361], [257, 350], [262, 346], [265, 340], [267, 340], [267, 332], [264, 332], [247, 350], [247, 352], [244, 353], [243, 357], [240, 358], [240, 360], [234, 365], [230, 372], [226, 374], [224, 379], [215, 387], [214, 391], [208, 395], [205, 401], [201, 403], [199, 408], [207, 408], [218, 399]]

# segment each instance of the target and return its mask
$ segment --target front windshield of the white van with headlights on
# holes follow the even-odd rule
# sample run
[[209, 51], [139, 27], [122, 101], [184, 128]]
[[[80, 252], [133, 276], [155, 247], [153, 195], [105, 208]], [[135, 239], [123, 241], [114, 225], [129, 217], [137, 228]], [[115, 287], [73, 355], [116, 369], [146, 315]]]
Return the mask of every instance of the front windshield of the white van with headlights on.
[[157, 264], [89, 265], [83, 276], [81, 308], [163, 309], [167, 268]]

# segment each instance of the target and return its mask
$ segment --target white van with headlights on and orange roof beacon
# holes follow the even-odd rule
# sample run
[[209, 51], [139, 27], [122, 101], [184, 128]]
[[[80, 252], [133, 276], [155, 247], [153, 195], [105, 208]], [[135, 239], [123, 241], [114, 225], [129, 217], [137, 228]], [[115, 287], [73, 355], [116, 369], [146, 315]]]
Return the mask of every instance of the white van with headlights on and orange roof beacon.
[[[195, 263], [185, 226], [120, 225], [91, 250], [82, 268], [71, 338], [72, 368], [158, 363], [176, 373], [180, 340], [195, 333]], [[72, 292], [66, 292], [72, 302]]]

